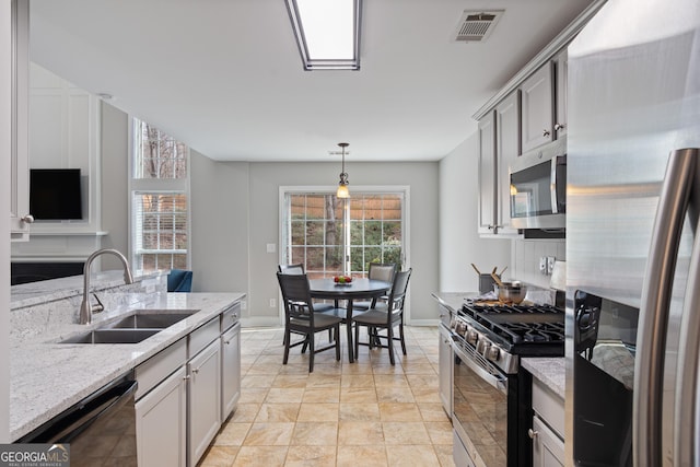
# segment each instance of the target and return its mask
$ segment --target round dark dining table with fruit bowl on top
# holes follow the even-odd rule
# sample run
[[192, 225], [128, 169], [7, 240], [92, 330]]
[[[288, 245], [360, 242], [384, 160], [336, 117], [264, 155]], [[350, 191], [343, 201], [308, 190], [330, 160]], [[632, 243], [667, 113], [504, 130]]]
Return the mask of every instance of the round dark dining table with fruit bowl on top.
[[392, 289], [392, 282], [358, 278], [351, 282], [339, 283], [332, 278], [310, 279], [311, 296], [313, 299], [347, 301], [346, 328], [348, 330], [348, 358], [354, 362], [352, 345], [352, 302], [354, 300], [374, 300], [386, 294]]

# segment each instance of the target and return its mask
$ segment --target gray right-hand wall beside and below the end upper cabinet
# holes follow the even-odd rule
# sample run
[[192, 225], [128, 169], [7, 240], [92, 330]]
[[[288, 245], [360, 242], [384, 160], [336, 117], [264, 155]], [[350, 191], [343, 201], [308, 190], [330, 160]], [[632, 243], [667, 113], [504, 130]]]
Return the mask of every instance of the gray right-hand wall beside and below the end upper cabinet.
[[475, 132], [440, 161], [440, 290], [478, 291], [481, 271], [511, 265], [511, 241], [477, 234], [479, 199], [478, 135]]

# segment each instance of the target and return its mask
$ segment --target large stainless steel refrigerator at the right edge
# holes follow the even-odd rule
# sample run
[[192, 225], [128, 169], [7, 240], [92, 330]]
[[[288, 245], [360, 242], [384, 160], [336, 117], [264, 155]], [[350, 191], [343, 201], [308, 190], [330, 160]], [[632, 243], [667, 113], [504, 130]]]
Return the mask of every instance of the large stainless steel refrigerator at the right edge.
[[700, 1], [569, 47], [567, 465], [700, 465]]

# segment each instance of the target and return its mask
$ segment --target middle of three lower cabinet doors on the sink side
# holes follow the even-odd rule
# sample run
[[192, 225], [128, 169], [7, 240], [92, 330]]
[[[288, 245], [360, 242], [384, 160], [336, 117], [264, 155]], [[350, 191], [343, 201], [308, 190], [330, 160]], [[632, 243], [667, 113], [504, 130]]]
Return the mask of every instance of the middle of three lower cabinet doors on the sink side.
[[188, 366], [189, 465], [205, 454], [221, 428], [221, 343], [219, 339], [194, 357]]

